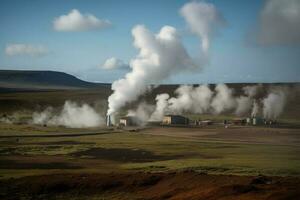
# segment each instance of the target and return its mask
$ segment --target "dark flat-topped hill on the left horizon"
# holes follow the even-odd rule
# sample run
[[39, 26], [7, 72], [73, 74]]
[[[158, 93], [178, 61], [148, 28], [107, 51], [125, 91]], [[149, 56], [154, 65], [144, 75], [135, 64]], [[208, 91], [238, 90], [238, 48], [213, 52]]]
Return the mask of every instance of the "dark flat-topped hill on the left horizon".
[[0, 88], [11, 89], [77, 89], [107, 84], [90, 83], [56, 71], [0, 70]]

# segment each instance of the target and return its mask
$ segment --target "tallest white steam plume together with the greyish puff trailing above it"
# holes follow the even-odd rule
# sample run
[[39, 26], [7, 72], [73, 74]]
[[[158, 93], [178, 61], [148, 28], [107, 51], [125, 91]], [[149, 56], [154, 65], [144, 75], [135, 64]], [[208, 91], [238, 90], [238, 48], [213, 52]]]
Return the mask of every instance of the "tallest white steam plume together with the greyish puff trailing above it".
[[212, 4], [204, 2], [185, 4], [180, 13], [191, 31], [201, 38], [200, 55], [205, 54], [203, 58], [200, 56], [202, 64], [196, 65], [191, 59], [174, 27], [164, 26], [159, 33], [153, 34], [143, 25], [135, 26], [132, 35], [139, 54], [130, 62], [132, 71], [112, 84], [114, 92], [108, 98], [107, 111], [112, 119], [120, 108], [145, 93], [149, 84], [157, 84], [180, 71], [199, 69], [206, 63], [210, 35], [220, 22], [219, 13]]

